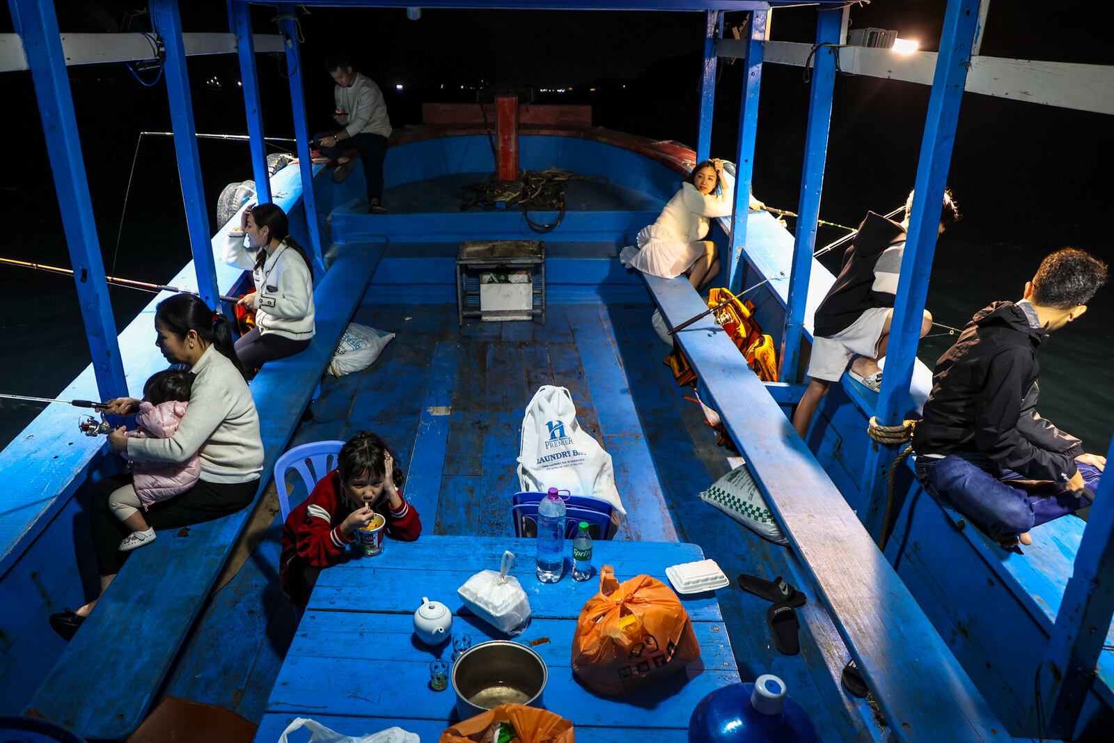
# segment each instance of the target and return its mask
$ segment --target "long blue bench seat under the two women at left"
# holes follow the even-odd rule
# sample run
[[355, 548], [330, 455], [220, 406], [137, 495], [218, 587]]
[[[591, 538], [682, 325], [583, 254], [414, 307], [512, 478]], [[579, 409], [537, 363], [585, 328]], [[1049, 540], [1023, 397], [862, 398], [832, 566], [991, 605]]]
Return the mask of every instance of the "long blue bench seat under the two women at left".
[[[374, 272], [381, 248], [345, 246], [314, 292], [316, 335], [252, 382], [265, 458], [256, 502], [310, 403]], [[81, 626], [26, 714], [121, 740], [143, 721], [252, 508], [183, 529], [136, 553]], [[90, 683], [98, 691], [89, 693]], [[108, 684], [108, 686], [104, 686]], [[109, 688], [110, 687], [110, 688]]]

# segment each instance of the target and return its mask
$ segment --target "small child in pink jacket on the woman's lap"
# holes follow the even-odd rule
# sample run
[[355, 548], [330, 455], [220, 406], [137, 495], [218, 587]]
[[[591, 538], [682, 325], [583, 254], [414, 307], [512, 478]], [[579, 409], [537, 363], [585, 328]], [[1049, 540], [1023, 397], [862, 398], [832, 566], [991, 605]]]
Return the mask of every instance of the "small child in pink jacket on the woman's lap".
[[[189, 404], [194, 374], [167, 369], [153, 374], [143, 388], [143, 402], [136, 414], [138, 428], [128, 431], [137, 439], [168, 439], [178, 430], [182, 417]], [[189, 490], [197, 482], [202, 463], [195, 453], [185, 465], [170, 462], [131, 462], [135, 477], [130, 488], [120, 488], [108, 498], [108, 506], [116, 518], [131, 529], [120, 542], [120, 550], [128, 551], [155, 540], [155, 530], [139, 510], [159, 500], [166, 500]]]

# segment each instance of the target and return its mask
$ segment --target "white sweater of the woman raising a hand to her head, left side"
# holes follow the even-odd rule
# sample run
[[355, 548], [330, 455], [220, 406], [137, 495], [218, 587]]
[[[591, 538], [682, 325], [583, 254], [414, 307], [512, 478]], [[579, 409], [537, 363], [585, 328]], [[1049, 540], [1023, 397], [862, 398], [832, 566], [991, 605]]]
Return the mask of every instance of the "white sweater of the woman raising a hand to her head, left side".
[[244, 233], [229, 232], [223, 260], [252, 272], [255, 324], [260, 333], [274, 333], [295, 341], [313, 338], [313, 274], [286, 241], [256, 268], [255, 253], [244, 247]]

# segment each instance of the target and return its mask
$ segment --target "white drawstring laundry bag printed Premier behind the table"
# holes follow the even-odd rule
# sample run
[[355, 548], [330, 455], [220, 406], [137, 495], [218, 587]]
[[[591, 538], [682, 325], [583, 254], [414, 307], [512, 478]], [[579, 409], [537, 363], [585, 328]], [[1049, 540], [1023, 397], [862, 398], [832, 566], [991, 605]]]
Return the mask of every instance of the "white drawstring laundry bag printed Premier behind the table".
[[612, 456], [576, 422], [573, 395], [564, 387], [543, 385], [526, 407], [518, 487], [530, 492], [557, 488], [599, 498], [626, 515], [615, 488]]

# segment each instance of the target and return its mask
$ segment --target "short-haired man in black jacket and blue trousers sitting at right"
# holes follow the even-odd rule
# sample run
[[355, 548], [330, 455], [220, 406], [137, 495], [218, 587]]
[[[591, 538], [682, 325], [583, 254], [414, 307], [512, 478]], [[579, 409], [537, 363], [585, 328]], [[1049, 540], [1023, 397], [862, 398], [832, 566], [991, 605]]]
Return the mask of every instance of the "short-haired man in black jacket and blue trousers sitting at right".
[[1106, 466], [1036, 411], [1042, 340], [1078, 320], [1105, 282], [1101, 261], [1056, 251], [1024, 299], [979, 310], [936, 362], [912, 439], [917, 478], [1004, 547], [1089, 505]]

